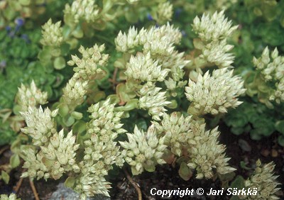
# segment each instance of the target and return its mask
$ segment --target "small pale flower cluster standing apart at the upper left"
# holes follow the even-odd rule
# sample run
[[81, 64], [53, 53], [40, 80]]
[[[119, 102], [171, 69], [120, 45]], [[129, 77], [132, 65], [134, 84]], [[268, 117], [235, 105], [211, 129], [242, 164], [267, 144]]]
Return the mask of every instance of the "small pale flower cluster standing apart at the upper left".
[[61, 21], [53, 23], [50, 18], [48, 22], [42, 26], [43, 30], [41, 33], [43, 34], [43, 39], [40, 40], [40, 43], [48, 46], [59, 46], [63, 41], [62, 28], [60, 28], [60, 26]]

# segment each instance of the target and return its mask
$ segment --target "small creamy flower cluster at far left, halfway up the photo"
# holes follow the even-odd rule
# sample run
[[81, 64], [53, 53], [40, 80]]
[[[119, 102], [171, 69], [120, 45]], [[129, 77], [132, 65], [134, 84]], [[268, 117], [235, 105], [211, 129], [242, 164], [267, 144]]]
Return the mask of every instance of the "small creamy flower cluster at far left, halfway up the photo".
[[31, 87], [26, 87], [21, 84], [18, 88], [18, 93], [16, 95], [16, 101], [19, 106], [21, 106], [21, 111], [28, 111], [28, 106], [37, 106], [38, 104], [48, 103], [48, 93], [42, 92], [35, 86], [35, 82], [31, 82]]

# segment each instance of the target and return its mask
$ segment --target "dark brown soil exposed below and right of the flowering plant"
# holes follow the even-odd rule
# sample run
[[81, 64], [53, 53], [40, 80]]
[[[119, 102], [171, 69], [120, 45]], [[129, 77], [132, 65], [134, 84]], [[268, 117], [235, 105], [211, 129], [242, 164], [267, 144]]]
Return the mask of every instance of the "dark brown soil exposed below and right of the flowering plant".
[[[220, 128], [221, 136], [219, 138], [220, 143], [226, 145], [226, 155], [231, 157], [229, 163], [231, 167], [236, 168], [236, 174], [243, 176], [245, 179], [249, 177], [249, 174], [253, 170], [244, 169], [246, 167], [252, 168], [255, 167], [256, 160], [261, 159], [261, 162], [268, 163], [273, 161], [275, 163], [275, 175], [279, 175], [278, 182], [282, 183], [280, 185], [280, 191], [278, 191], [278, 196], [280, 199], [284, 199], [284, 148], [276, 143], [277, 135], [276, 133], [271, 135], [268, 138], [263, 138], [262, 140], [256, 141], [251, 140], [249, 135], [233, 135], [229, 133], [228, 128], [221, 126]], [[241, 145], [240, 145], [241, 144]], [[11, 152], [6, 150], [4, 154], [0, 155], [0, 166], [9, 162], [9, 157]], [[245, 167], [241, 167], [240, 163], [243, 161], [246, 163]], [[21, 175], [21, 167], [16, 168], [10, 173], [10, 182], [8, 185], [0, 181], [0, 194], [10, 194], [13, 191], [13, 187], [18, 182], [18, 179]], [[219, 179], [212, 181], [209, 180], [198, 180], [192, 177], [190, 180], [185, 181], [180, 178], [178, 174], [178, 166], [173, 167], [171, 165], [162, 165], [158, 166], [155, 172], [143, 172], [139, 176], [133, 177], [133, 181], [138, 183], [141, 187], [141, 192], [143, 199], [161, 199], [160, 196], [151, 195], [151, 189], [198, 189], [202, 188], [205, 192], [208, 192], [210, 188], [212, 189], [221, 189], [222, 182]], [[34, 181], [35, 188], [38, 191], [40, 199], [47, 200], [56, 190], [58, 181], [48, 180], [39, 180]], [[125, 174], [122, 172], [117, 176], [115, 181], [111, 181], [112, 189], [110, 191], [111, 199], [138, 199], [137, 193], [131, 183], [126, 179]], [[18, 198], [22, 200], [32, 200], [33, 191], [31, 191], [30, 183], [28, 179], [23, 179], [23, 183], [17, 194]], [[170, 198], [163, 199], [230, 199], [231, 196], [197, 196], [194, 197], [184, 196], [171, 196]], [[73, 199], [66, 199], [73, 200]]]

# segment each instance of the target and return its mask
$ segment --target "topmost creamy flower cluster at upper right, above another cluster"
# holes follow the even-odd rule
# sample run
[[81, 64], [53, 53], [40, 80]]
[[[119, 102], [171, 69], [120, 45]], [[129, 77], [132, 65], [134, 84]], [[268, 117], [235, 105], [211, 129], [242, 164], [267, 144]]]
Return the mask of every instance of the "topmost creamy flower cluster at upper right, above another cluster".
[[204, 42], [218, 41], [228, 38], [238, 26], [231, 26], [231, 21], [225, 18], [224, 11], [215, 12], [213, 16], [195, 17], [192, 28]]

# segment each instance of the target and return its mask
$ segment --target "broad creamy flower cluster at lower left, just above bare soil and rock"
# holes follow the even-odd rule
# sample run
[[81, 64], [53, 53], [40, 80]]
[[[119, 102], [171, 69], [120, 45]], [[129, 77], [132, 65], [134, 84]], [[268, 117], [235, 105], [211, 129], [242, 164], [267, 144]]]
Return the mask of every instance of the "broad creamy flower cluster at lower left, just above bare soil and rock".
[[53, 177], [53, 179], [59, 179], [66, 172], [80, 172], [80, 168], [75, 162], [76, 151], [79, 148], [75, 139], [72, 130], [66, 137], [61, 130], [50, 137], [48, 145], [40, 146], [39, 152], [32, 148], [23, 150], [24, 160], [26, 160], [23, 168], [27, 168], [28, 171], [24, 172], [22, 177], [37, 177], [37, 179]]

